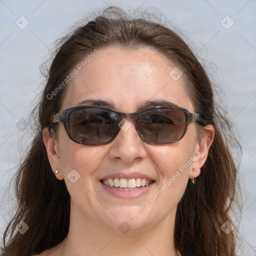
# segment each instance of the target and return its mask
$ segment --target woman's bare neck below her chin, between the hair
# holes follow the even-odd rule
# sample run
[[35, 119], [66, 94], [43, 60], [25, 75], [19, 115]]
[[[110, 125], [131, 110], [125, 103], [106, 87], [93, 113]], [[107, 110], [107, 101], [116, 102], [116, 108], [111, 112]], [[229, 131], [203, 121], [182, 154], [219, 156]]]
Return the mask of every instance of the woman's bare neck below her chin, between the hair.
[[[173, 243], [174, 211], [154, 226], [148, 224], [139, 230], [131, 228], [123, 233], [119, 229], [115, 230], [100, 223], [97, 219], [87, 219], [78, 212], [70, 214], [68, 235], [59, 244], [56, 255], [176, 255]], [[121, 225], [129, 226], [124, 222]]]

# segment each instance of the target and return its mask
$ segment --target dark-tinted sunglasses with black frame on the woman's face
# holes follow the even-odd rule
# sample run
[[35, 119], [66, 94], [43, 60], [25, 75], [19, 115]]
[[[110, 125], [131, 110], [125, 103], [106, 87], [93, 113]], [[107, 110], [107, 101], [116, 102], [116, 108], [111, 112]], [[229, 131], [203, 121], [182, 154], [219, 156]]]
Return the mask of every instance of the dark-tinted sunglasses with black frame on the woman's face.
[[122, 128], [124, 118], [133, 119], [142, 140], [152, 144], [180, 140], [191, 121], [199, 115], [178, 106], [155, 106], [123, 113], [103, 106], [76, 106], [56, 113], [52, 122], [62, 122], [68, 137], [84, 145], [111, 142]]

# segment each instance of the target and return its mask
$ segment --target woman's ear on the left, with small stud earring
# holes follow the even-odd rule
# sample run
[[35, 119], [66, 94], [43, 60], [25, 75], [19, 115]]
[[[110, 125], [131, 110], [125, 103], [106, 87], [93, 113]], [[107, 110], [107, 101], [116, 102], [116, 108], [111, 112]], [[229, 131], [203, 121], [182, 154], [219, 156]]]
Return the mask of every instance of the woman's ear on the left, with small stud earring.
[[[51, 169], [55, 174], [56, 178], [61, 180], [64, 177], [62, 173], [62, 164], [61, 159], [59, 157], [59, 148], [57, 140], [50, 136], [48, 127], [43, 129], [42, 136]], [[58, 173], [55, 173], [55, 170], [58, 170]]]

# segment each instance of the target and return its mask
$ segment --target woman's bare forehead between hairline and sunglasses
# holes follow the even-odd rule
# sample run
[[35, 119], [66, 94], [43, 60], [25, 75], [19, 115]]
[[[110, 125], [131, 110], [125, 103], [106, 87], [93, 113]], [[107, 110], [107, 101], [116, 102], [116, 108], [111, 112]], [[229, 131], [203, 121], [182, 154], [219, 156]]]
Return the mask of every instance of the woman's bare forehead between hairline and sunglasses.
[[193, 110], [183, 77], [172, 75], [175, 65], [150, 48], [99, 49], [80, 66], [74, 67], [76, 74], [67, 85], [61, 110], [86, 99], [109, 101], [122, 112], [137, 111], [144, 102], [154, 100]]

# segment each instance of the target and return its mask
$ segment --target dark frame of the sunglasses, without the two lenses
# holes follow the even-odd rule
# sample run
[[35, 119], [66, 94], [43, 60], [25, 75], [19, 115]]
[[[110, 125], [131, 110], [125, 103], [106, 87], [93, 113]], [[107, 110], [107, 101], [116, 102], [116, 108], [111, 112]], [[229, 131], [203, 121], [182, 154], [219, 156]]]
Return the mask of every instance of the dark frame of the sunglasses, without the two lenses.
[[[190, 113], [187, 109], [183, 108], [183, 107], [179, 107], [179, 106], [153, 106], [153, 107], [149, 107], [149, 108], [144, 108], [140, 111], [136, 111], [136, 112], [132, 112], [132, 113], [124, 113], [124, 112], [119, 112], [115, 109], [112, 109], [112, 108], [108, 108], [108, 107], [104, 107], [104, 106], [92, 106], [92, 105], [80, 105], [80, 106], [74, 106], [74, 107], [70, 107], [70, 108], [67, 108], [65, 110], [63, 110], [61, 113], [56, 113], [53, 115], [53, 118], [52, 118], [52, 122], [55, 123], [55, 122], [62, 122], [63, 125], [64, 125], [64, 128], [66, 130], [66, 133], [68, 135], [68, 137], [78, 143], [78, 144], [83, 144], [83, 145], [103, 145], [103, 144], [107, 144], [107, 143], [110, 143], [111, 141], [114, 140], [114, 138], [117, 136], [117, 134], [119, 133], [120, 131], [120, 127], [118, 129], [118, 131], [116, 132], [116, 134], [110, 139], [108, 140], [107, 142], [104, 142], [104, 143], [94, 143], [94, 144], [84, 144], [80, 141], [77, 141], [75, 140], [71, 134], [70, 134], [70, 131], [69, 131], [69, 116], [70, 114], [75, 111], [75, 110], [78, 110], [78, 109], [84, 109], [84, 108], [99, 108], [99, 109], [106, 109], [106, 110], [110, 110], [110, 111], [113, 111], [114, 113], [117, 114], [117, 116], [119, 117], [119, 121], [118, 123], [123, 120], [124, 118], [126, 119], [133, 119], [134, 120], [134, 123], [135, 123], [135, 127], [136, 127], [136, 130], [137, 130], [137, 133], [139, 134], [139, 136], [141, 137], [141, 139], [147, 143], [150, 143], [150, 144], [169, 144], [169, 143], [174, 143], [178, 140], [180, 140], [186, 133], [186, 129], [187, 129], [187, 124], [189, 122], [192, 122], [192, 121], [199, 121], [199, 114], [197, 113]], [[138, 119], [138, 115], [144, 111], [148, 111], [150, 109], [162, 109], [162, 108], [171, 108], [171, 109], [179, 109], [179, 110], [182, 110], [184, 113], [185, 113], [185, 127], [184, 127], [184, 130], [183, 130], [183, 133], [182, 135], [176, 139], [176, 140], [173, 140], [173, 141], [167, 141], [167, 142], [151, 142], [147, 139], [144, 138], [143, 134], [140, 133], [140, 130], [139, 128], [137, 127], [137, 119]]]

